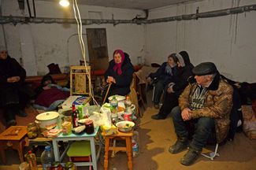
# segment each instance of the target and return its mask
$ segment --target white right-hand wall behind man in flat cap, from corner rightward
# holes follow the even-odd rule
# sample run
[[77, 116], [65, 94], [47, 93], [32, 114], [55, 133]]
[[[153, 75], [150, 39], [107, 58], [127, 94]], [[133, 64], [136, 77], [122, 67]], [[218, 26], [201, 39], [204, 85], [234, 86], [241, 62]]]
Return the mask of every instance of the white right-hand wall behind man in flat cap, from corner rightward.
[[[207, 12], [256, 4], [255, 0], [204, 0], [150, 10], [149, 19]], [[168, 54], [187, 50], [194, 65], [213, 61], [219, 71], [236, 81], [256, 82], [256, 11], [225, 17], [147, 24], [147, 63], [166, 60]]]

